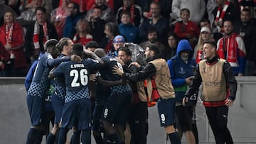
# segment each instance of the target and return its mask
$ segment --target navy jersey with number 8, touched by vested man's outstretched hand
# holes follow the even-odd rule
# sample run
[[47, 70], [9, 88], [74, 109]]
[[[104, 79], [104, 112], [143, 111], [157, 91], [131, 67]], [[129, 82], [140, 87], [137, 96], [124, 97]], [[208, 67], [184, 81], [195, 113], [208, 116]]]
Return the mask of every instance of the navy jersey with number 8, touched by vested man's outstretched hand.
[[[122, 65], [120, 62], [117, 62], [117, 59], [111, 56], [106, 56], [101, 58], [102, 61], [104, 62], [104, 67], [100, 70], [101, 74], [106, 74], [105, 80], [110, 80], [110, 81], [118, 81], [122, 79], [118, 74], [113, 74], [112, 69], [116, 65], [119, 67], [119, 69], [122, 69]], [[102, 78], [103, 79], [103, 78]], [[118, 85], [111, 87], [111, 95], [112, 94], [121, 94], [122, 92], [128, 92], [132, 91], [131, 87], [129, 87], [128, 84], [126, 85]]]

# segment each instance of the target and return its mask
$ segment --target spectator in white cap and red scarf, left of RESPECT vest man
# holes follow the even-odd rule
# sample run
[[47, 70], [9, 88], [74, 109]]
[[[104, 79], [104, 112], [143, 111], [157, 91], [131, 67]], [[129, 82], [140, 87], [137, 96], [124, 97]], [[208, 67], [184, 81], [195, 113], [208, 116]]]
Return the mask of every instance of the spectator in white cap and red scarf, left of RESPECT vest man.
[[204, 26], [203, 28], [201, 28], [198, 43], [194, 49], [193, 57], [196, 59], [196, 63], [200, 62], [201, 60], [204, 60], [203, 44], [208, 40], [215, 41], [210, 33], [210, 28]]

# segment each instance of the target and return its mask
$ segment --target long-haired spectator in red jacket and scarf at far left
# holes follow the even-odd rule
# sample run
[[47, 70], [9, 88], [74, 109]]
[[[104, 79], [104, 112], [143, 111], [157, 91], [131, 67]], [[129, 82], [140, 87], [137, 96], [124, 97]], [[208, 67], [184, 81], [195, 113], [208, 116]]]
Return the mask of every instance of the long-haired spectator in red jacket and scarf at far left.
[[24, 33], [23, 28], [16, 23], [13, 11], [4, 13], [4, 25], [0, 27], [0, 41], [10, 54], [10, 60], [6, 63], [3, 74], [5, 77], [21, 77], [26, 67], [26, 59], [23, 52]]

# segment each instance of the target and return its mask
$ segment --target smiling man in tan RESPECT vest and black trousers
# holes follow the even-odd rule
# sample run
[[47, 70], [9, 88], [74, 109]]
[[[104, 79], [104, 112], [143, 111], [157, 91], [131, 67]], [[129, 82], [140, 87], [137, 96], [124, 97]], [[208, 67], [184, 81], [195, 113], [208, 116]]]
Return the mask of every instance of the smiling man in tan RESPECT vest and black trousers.
[[183, 105], [188, 97], [202, 84], [201, 99], [206, 108], [206, 114], [213, 130], [216, 143], [233, 143], [228, 130], [228, 107], [233, 105], [237, 91], [237, 82], [232, 67], [226, 60], [216, 55], [217, 45], [207, 41], [203, 45], [204, 58], [196, 66], [193, 82], [186, 91]]

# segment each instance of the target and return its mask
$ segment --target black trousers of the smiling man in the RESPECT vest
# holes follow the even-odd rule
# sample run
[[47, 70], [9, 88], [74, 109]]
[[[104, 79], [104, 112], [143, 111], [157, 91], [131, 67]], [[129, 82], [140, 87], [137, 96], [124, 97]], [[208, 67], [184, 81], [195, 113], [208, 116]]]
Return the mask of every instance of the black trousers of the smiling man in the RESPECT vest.
[[233, 144], [233, 139], [228, 130], [228, 106], [206, 106], [206, 114], [213, 130], [216, 144]]

